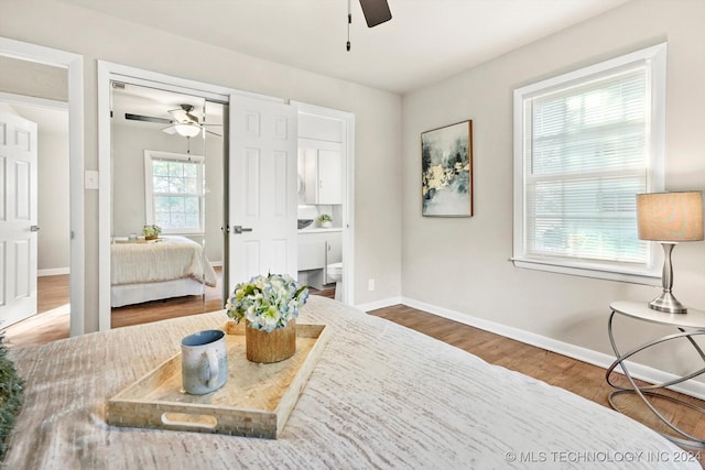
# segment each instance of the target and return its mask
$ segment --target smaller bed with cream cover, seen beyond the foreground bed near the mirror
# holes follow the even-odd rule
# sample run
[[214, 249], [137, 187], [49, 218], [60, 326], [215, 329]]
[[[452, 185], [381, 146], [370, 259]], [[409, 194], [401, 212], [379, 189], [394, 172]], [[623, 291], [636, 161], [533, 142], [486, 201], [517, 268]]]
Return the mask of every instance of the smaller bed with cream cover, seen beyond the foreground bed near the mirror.
[[186, 237], [117, 240], [110, 245], [110, 305], [121, 307], [185, 295], [214, 287], [217, 276], [203, 247]]

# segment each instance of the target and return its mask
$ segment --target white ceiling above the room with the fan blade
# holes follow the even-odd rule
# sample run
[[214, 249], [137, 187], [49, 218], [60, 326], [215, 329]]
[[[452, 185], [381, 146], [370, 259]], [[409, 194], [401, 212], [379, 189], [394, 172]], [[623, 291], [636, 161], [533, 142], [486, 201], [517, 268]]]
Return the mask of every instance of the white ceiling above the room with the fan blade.
[[389, 0], [368, 29], [348, 0], [61, 0], [193, 40], [398, 94], [423, 87], [628, 0]]

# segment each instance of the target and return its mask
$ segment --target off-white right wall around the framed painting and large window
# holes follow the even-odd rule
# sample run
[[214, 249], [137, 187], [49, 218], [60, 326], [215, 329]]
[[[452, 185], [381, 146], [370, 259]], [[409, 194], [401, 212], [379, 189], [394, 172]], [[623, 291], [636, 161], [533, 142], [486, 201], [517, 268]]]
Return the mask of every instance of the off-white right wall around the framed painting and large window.
[[[641, 0], [404, 96], [403, 296], [611, 353], [609, 303], [647, 302], [660, 288], [517, 269], [512, 255], [512, 91], [668, 40], [666, 189], [705, 189], [705, 2]], [[473, 120], [475, 217], [421, 217], [420, 133]], [[674, 293], [705, 309], [705, 243], [674, 251]], [[469, 317], [468, 317], [469, 318]], [[634, 345], [657, 329], [621, 318]], [[658, 332], [663, 332], [658, 330]], [[663, 352], [666, 351], [666, 352]], [[682, 350], [642, 361], [668, 372], [696, 362]]]

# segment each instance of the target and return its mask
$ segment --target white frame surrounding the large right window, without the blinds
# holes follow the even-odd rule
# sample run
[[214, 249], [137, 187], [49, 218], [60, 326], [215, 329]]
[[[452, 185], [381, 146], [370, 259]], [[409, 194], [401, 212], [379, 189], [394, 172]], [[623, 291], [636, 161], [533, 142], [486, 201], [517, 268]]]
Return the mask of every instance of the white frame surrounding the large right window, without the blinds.
[[[664, 190], [665, 181], [665, 98], [666, 98], [666, 43], [657, 44], [619, 57], [583, 67], [566, 74], [543, 79], [514, 89], [513, 120], [513, 255], [514, 266], [547, 271], [553, 273], [579, 275], [637, 284], [654, 283], [661, 277], [661, 252], [648, 243], [648, 260], [644, 264], [618, 265], [596, 261], [581, 261], [562, 256], [531, 255], [525, 248], [525, 164], [527, 164], [527, 105], [535, 96], [552, 90], [564, 89], [604, 77], [625, 68], [646, 65], [651, 83], [650, 129], [648, 140], [648, 161], [646, 163], [647, 192]], [[636, 198], [636, 195], [634, 195]], [[634, 206], [636, 207], [636, 206]], [[634, 209], [636, 210], [636, 209]]]

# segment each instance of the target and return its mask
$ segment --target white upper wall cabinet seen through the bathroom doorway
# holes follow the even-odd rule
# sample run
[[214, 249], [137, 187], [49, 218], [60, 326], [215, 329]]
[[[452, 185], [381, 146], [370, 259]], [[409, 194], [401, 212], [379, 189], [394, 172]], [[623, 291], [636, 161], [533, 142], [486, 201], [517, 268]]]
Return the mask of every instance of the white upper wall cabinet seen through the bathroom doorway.
[[339, 144], [300, 139], [299, 183], [302, 204], [343, 204], [343, 153]]

